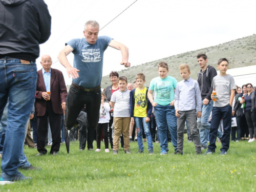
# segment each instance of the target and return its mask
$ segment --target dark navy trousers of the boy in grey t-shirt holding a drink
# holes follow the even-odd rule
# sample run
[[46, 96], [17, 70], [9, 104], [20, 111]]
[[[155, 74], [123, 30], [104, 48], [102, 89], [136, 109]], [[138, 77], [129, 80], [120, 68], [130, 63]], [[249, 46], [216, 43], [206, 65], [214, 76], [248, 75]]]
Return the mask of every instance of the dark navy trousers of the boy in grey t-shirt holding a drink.
[[227, 106], [223, 106], [222, 108], [216, 108], [212, 110], [211, 115], [211, 124], [210, 124], [210, 144], [208, 146], [208, 150], [215, 151], [216, 149], [216, 138], [218, 133], [218, 128], [223, 118], [223, 136], [222, 136], [222, 147], [221, 151], [226, 152], [229, 148], [229, 140], [230, 140], [230, 130], [231, 130], [231, 115], [232, 115], [232, 108], [230, 104]]

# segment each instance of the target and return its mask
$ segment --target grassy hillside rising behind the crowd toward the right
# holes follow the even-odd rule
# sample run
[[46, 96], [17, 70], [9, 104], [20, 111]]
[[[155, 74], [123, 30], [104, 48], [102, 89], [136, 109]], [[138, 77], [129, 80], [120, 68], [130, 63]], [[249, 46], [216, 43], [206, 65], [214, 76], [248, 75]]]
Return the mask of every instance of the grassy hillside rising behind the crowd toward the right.
[[[256, 35], [243, 37], [195, 51], [173, 55], [159, 60], [143, 63], [142, 65], [133, 66], [118, 71], [119, 76], [126, 76], [128, 82], [135, 81], [137, 73], [144, 73], [146, 76], [146, 86], [149, 86], [152, 78], [157, 77], [157, 65], [160, 61], [165, 61], [169, 65], [168, 75], [175, 77], [178, 81], [182, 80], [179, 74], [179, 66], [187, 63], [191, 70], [191, 78], [196, 79], [200, 68], [197, 63], [197, 54], [205, 53], [208, 57], [208, 65], [213, 66], [217, 70], [217, 62], [220, 58], [225, 57], [229, 60], [229, 69], [240, 68], [245, 66], [256, 65]], [[101, 87], [105, 88], [111, 84], [109, 75], [103, 76]]]

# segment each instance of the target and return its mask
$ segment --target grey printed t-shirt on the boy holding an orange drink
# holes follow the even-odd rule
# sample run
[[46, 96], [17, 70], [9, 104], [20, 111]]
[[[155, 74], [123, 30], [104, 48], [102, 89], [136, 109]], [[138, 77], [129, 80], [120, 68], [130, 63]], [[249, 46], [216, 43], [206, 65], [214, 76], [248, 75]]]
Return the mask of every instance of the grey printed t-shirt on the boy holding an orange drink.
[[215, 76], [214, 79], [212, 79], [211, 87], [215, 89], [217, 94], [217, 101], [214, 102], [214, 106], [217, 108], [227, 106], [230, 100], [230, 90], [237, 89], [234, 78], [229, 74], [225, 76]]

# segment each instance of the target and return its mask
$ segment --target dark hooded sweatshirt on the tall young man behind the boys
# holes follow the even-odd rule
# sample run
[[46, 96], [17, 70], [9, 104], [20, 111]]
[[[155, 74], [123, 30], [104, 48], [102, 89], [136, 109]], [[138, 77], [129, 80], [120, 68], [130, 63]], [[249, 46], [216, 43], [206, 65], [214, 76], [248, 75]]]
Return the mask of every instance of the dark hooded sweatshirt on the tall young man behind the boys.
[[212, 93], [212, 90], [214, 90], [211, 87], [211, 82], [216, 75], [216, 69], [211, 66], [207, 66], [206, 70], [200, 70], [200, 72], [198, 73], [197, 81], [199, 83], [202, 100], [204, 100], [205, 98], [211, 100], [210, 95]]

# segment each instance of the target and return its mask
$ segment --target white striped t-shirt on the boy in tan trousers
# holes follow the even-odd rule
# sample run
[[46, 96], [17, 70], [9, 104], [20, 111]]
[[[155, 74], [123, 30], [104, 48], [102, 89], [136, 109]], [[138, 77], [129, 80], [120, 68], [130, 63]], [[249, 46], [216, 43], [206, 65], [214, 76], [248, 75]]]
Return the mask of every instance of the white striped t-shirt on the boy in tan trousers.
[[131, 117], [130, 114], [130, 91], [120, 90], [113, 93], [111, 101], [115, 102], [113, 117]]

